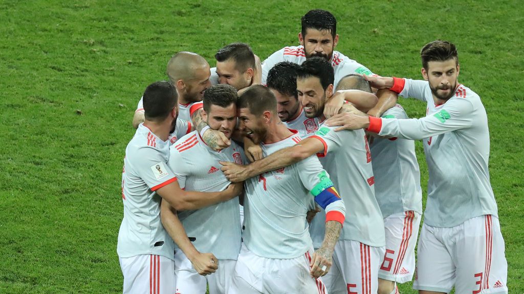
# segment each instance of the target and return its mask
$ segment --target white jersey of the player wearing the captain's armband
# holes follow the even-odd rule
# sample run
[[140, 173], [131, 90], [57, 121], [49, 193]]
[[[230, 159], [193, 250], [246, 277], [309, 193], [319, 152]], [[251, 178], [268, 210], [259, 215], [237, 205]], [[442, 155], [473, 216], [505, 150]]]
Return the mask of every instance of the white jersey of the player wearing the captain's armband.
[[[279, 142], [261, 144], [263, 155], [266, 157], [300, 140], [298, 135], [293, 134]], [[311, 247], [311, 238], [305, 216], [315, 206], [315, 186], [322, 183], [326, 176], [316, 156], [310, 156], [247, 179], [244, 183], [245, 230], [242, 238], [249, 251], [275, 259], [296, 258], [307, 252]], [[334, 201], [326, 207], [326, 211], [328, 214], [334, 212], [331, 214], [334, 216], [343, 216], [344, 202]], [[328, 220], [343, 222], [343, 218], [328, 217]]]

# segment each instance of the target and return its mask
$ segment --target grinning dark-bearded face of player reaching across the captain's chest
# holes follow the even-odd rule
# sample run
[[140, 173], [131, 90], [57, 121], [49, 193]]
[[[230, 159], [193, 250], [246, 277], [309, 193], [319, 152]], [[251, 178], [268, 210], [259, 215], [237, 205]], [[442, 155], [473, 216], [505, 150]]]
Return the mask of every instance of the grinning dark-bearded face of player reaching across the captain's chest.
[[324, 91], [320, 78], [309, 76], [297, 78], [297, 92], [300, 104], [308, 118], [320, 117], [324, 112], [326, 99], [333, 93], [333, 85]]

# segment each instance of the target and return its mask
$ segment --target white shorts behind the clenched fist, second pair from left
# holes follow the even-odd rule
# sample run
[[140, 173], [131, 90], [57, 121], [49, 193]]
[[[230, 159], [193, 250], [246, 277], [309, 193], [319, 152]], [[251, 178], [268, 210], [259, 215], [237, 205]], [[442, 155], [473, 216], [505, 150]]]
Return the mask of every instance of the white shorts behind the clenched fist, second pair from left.
[[[227, 294], [236, 261], [219, 259], [219, 268], [211, 275], [202, 276], [196, 272], [191, 261], [182, 251], [174, 255], [174, 273], [177, 276], [177, 294], [202, 294], [209, 284], [210, 294]], [[172, 293], [171, 293], [172, 294]]]

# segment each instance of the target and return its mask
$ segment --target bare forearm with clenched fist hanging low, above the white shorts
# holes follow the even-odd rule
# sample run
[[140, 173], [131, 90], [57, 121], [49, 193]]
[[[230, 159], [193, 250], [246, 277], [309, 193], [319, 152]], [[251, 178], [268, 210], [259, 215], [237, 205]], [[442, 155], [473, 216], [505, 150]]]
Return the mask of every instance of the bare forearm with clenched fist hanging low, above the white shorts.
[[160, 203], [160, 220], [174, 243], [191, 261], [197, 273], [205, 276], [216, 271], [219, 266], [218, 259], [212, 253], [200, 253], [196, 250], [178, 218], [177, 211], [165, 200]]

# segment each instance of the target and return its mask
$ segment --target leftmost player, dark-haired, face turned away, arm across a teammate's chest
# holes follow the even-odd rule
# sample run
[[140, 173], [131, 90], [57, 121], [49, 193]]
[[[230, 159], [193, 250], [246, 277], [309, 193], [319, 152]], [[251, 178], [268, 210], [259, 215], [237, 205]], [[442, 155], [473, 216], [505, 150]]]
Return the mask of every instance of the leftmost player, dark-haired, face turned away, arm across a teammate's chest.
[[117, 245], [124, 293], [172, 294], [175, 290], [174, 244], [160, 221], [162, 199], [176, 210], [188, 210], [227, 201], [242, 191], [237, 185], [213, 193], [180, 189], [167, 166], [177, 98], [169, 82], [149, 85], [144, 92], [145, 121], [127, 144], [122, 171], [124, 218]]

